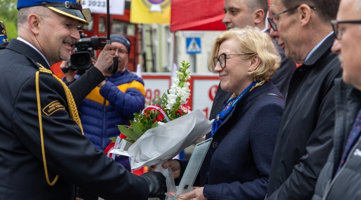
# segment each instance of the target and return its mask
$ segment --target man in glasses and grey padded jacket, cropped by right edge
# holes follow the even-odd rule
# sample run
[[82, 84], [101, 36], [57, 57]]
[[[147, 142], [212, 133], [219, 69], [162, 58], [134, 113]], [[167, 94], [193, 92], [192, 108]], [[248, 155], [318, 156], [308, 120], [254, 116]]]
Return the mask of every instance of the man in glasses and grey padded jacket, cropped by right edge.
[[317, 179], [312, 200], [361, 199], [360, 9], [360, 1], [343, 0], [337, 21], [332, 22], [337, 35], [332, 51], [340, 55], [343, 73], [335, 80], [334, 147]]

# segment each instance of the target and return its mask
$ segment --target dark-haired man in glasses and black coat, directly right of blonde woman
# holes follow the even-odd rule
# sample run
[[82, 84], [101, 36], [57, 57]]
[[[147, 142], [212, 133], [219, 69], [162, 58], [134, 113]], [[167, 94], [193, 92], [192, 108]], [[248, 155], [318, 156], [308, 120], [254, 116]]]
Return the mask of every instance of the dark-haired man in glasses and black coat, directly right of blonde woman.
[[[307, 3], [307, 4], [306, 4]], [[292, 76], [273, 155], [267, 198], [310, 199], [332, 148], [334, 79], [330, 20], [339, 0], [271, 0], [270, 35], [287, 58], [303, 63]]]

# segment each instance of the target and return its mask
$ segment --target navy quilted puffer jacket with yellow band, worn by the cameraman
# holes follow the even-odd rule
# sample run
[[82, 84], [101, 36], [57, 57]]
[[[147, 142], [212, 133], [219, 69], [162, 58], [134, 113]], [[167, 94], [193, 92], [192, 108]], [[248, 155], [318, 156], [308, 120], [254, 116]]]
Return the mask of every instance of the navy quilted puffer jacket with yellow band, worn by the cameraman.
[[144, 96], [142, 78], [128, 69], [106, 77], [105, 85], [94, 88], [79, 105], [84, 135], [96, 149], [104, 150], [110, 143], [109, 137], [119, 135], [116, 125], [129, 125], [134, 113], [144, 108]]

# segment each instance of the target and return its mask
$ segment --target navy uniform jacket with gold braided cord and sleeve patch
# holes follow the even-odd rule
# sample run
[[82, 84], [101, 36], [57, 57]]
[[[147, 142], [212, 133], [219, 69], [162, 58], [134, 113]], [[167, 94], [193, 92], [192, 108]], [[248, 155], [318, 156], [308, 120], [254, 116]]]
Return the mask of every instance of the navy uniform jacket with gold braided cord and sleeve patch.
[[[40, 73], [36, 81], [40, 66], [50, 69], [39, 53], [12, 40], [0, 51], [0, 60], [0, 200], [71, 200], [75, 185], [107, 200], [147, 199], [149, 187], [144, 178], [95, 150], [81, 134], [81, 128], [69, 117], [61, 83], [49, 73]], [[43, 156], [50, 182], [59, 175], [53, 186], [45, 178]]]

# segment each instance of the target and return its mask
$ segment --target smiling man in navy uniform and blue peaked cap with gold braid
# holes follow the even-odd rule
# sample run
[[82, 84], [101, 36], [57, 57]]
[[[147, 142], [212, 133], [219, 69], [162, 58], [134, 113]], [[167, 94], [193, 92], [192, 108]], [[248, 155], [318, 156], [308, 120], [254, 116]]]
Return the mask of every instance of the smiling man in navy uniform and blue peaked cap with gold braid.
[[[87, 21], [80, 0], [54, 1], [18, 0], [19, 37], [0, 51], [0, 200], [73, 200], [77, 186], [107, 200], [163, 195], [160, 173], [136, 176], [82, 135], [76, 100], [49, 66], [70, 58]], [[95, 66], [114, 54], [105, 46]]]

